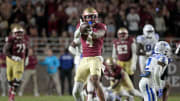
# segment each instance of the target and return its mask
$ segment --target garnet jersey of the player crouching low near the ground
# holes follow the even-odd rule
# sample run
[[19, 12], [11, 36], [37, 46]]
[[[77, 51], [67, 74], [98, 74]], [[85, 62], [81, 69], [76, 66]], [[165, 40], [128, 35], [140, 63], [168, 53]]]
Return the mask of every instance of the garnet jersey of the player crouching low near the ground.
[[116, 65], [114, 71], [110, 71], [108, 70], [108, 68], [105, 65], [105, 69], [103, 70], [103, 75], [109, 79], [109, 80], [117, 80], [117, 79], [121, 79], [122, 78], [122, 68], [118, 65]]

